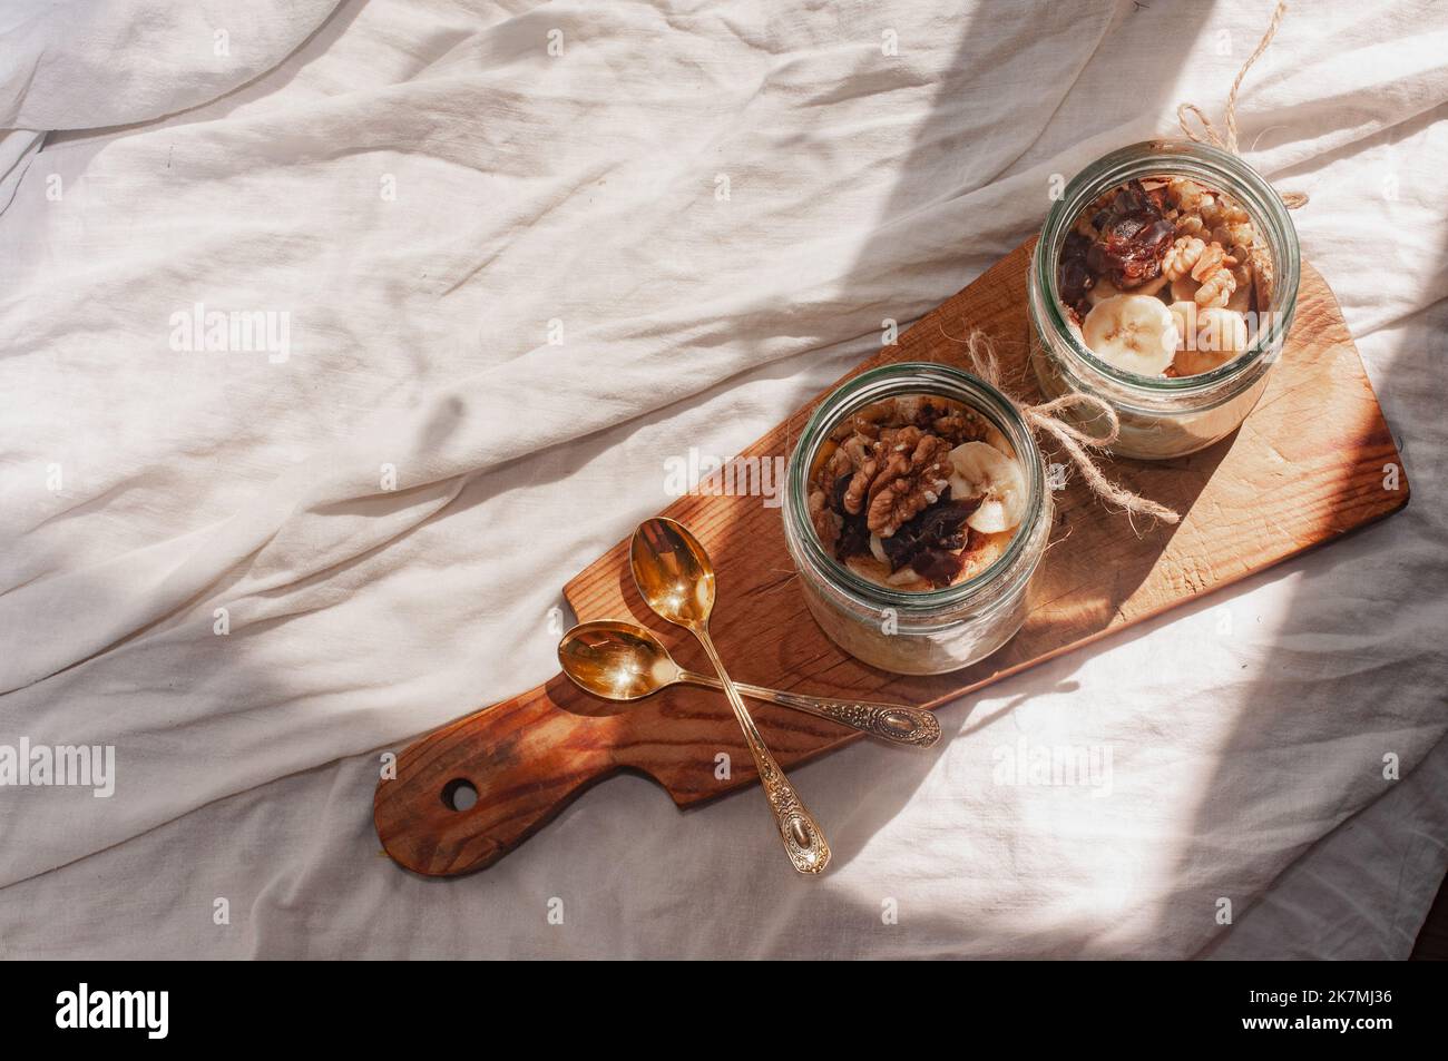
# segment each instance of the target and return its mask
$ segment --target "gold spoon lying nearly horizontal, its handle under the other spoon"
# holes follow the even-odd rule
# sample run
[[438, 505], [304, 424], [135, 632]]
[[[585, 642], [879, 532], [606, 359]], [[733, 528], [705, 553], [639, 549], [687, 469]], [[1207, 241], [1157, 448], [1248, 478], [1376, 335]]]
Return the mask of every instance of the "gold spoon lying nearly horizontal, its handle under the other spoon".
[[[681, 667], [652, 630], [626, 620], [581, 622], [563, 634], [557, 660], [576, 686], [610, 701], [637, 701], [670, 685], [724, 688], [717, 677]], [[750, 699], [828, 718], [895, 744], [928, 748], [940, 740], [935, 715], [904, 703], [834, 701], [743, 682], [736, 682], [734, 688]]]

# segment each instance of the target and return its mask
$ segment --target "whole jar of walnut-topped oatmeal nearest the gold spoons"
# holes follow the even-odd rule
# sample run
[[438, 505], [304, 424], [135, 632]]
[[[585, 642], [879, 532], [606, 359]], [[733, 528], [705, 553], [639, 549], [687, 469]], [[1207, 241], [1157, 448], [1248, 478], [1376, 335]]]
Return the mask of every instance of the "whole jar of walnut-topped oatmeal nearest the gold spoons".
[[820, 404], [789, 457], [783, 520], [825, 634], [882, 670], [935, 675], [1019, 630], [1051, 494], [1031, 431], [999, 391], [905, 362]]

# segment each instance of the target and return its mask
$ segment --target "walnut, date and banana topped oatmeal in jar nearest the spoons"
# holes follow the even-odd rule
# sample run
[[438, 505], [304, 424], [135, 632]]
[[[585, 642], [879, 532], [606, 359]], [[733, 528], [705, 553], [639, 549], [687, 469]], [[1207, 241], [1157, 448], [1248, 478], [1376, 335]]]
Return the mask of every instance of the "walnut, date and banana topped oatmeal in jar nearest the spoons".
[[1015, 536], [1027, 482], [1005, 436], [963, 402], [908, 394], [838, 424], [815, 455], [809, 521], [860, 578], [901, 592], [986, 570]]

